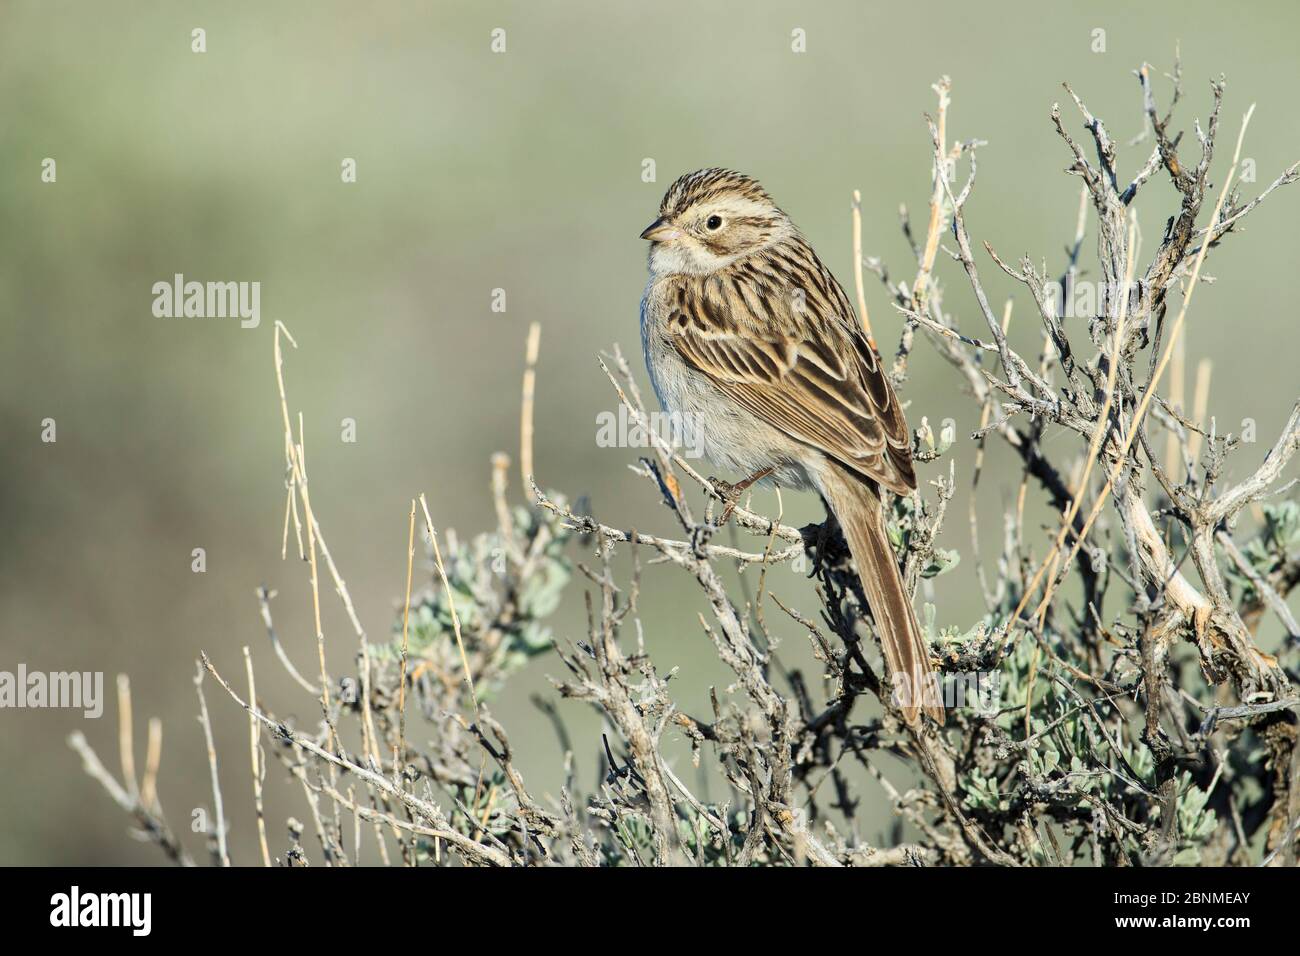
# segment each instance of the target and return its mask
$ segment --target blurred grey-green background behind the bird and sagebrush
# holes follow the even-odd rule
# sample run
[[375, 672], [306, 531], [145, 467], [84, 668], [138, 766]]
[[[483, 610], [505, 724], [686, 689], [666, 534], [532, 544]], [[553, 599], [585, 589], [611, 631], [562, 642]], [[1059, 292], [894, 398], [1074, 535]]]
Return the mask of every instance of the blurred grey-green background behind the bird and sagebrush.
[[[949, 131], [988, 140], [967, 219], [1004, 258], [1053, 271], [1074, 228], [1079, 182], [1048, 120], [1070, 81], [1126, 142], [1141, 129], [1132, 70], [1171, 66], [1182, 43], [1179, 127], [1209, 109], [1208, 78], [1228, 77], [1226, 143], [1258, 103], [1245, 155], [1270, 182], [1297, 159], [1295, 47], [1300, 8], [1216, 3], [0, 3], [0, 670], [105, 672], [104, 718], [0, 711], [0, 862], [157, 862], [83, 777], [65, 744], [81, 728], [116, 769], [113, 675], [134, 687], [143, 722], [165, 723], [161, 797], [174, 826], [211, 803], [191, 676], [200, 648], [238, 672], [259, 661], [259, 692], [280, 710], [313, 704], [270, 662], [254, 589], [278, 588], [277, 624], [311, 661], [304, 568], [280, 561], [282, 432], [272, 325], [302, 408], [313, 503], [367, 628], [386, 639], [404, 581], [410, 497], [426, 492], [441, 524], [489, 528], [489, 455], [517, 446], [529, 321], [542, 323], [537, 471], [545, 486], [589, 494], [624, 527], [668, 529], [668, 515], [601, 449], [595, 415], [614, 398], [594, 362], [620, 342], [641, 369], [637, 233], [680, 173], [731, 165], [759, 177], [852, 289], [849, 198], [863, 191], [868, 255], [910, 273], [898, 203], [919, 222], [928, 195], [930, 85], [954, 83]], [[207, 52], [191, 52], [191, 30]], [[494, 55], [490, 31], [506, 30]], [[793, 53], [790, 31], [806, 31]], [[1093, 30], [1106, 31], [1093, 52]], [[1158, 87], [1167, 101], [1167, 85]], [[1083, 131], [1072, 105], [1072, 130]], [[1191, 148], [1193, 137], [1188, 134]], [[1128, 150], [1134, 172], [1149, 146]], [[1222, 178], [1230, 146], [1221, 151]], [[40, 179], [57, 161], [57, 182]], [[339, 164], [358, 163], [344, 185]], [[658, 181], [642, 182], [642, 160]], [[1295, 250], [1300, 199], [1279, 191], [1208, 264], [1188, 356], [1213, 356], [1210, 414], [1243, 418], [1271, 441], [1296, 394]], [[1149, 254], [1175, 208], [1160, 177], [1140, 204]], [[1086, 242], [1091, 250], [1092, 238]], [[980, 254], [991, 294], [1014, 291]], [[952, 264], [946, 304], [979, 329]], [[261, 325], [156, 319], [151, 286], [187, 278], [261, 282]], [[491, 290], [507, 311], [490, 310]], [[898, 317], [878, 282], [868, 302], [892, 352]], [[1035, 349], [1018, 298], [1013, 339]], [[1286, 336], [1282, 345], [1269, 343]], [[644, 381], [644, 377], [642, 377]], [[958, 480], [968, 483], [978, 411], [956, 376], [918, 345], [905, 398], [919, 424], [958, 423]], [[57, 442], [40, 423], [57, 421]], [[358, 423], [356, 444], [339, 423]], [[1070, 437], [1056, 441], [1071, 442]], [[1010, 462], [991, 444], [983, 540], [997, 544]], [[1076, 454], [1079, 449], [1063, 454]], [[1262, 446], [1236, 462], [1257, 462]], [[965, 468], [965, 471], [963, 471]], [[922, 470], [922, 480], [932, 477]], [[517, 486], [514, 489], [516, 497]], [[965, 492], [962, 493], [965, 494]], [[786, 496], [786, 514], [816, 516]], [[775, 511], [771, 492], [757, 507]], [[968, 557], [965, 501], [946, 544]], [[1041, 553], [1041, 544], [1037, 545]], [[208, 570], [190, 570], [191, 550]], [[770, 581], [811, 605], [788, 570]], [[679, 697], [702, 708], [727, 675], [696, 623], [701, 602], [672, 568], [647, 572], [646, 633], [660, 667], [680, 666]], [[940, 623], [982, 610], [970, 562], [936, 581]], [[325, 630], [338, 670], [355, 649], [332, 600]], [[558, 619], [577, 633], [577, 588]], [[803, 637], [784, 627], [792, 659]], [[559, 780], [559, 747], [528, 702], [554, 696], [550, 657], [497, 705], [538, 793]], [[296, 701], [296, 705], [292, 704]], [[252, 862], [247, 724], [209, 684], [237, 862]], [[580, 773], [597, 773], [599, 727], [564, 705]], [[268, 814], [302, 814], [270, 771]], [[871, 800], [871, 793], [864, 795]], [[870, 835], [870, 834], [868, 834]], [[311, 848], [315, 851], [315, 847]]]

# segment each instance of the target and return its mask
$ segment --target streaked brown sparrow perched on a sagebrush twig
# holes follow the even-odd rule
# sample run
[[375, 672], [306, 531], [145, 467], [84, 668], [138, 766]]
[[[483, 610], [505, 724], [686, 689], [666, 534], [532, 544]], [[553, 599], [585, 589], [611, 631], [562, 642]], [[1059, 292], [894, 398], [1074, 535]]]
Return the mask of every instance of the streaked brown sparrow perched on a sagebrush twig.
[[885, 533], [880, 488], [916, 486], [907, 423], [848, 297], [757, 181], [677, 179], [659, 204], [641, 341], [667, 411], [714, 464], [815, 488], [844, 528], [913, 726], [944, 708], [930, 648]]

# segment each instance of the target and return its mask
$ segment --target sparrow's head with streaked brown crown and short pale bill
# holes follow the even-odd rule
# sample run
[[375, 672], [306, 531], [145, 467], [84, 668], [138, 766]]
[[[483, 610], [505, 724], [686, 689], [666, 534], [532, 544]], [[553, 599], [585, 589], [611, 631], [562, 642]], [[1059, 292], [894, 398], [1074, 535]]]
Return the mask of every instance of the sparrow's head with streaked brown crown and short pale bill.
[[767, 190], [732, 169], [699, 169], [677, 179], [646, 226], [650, 272], [707, 276], [789, 235], [794, 225]]

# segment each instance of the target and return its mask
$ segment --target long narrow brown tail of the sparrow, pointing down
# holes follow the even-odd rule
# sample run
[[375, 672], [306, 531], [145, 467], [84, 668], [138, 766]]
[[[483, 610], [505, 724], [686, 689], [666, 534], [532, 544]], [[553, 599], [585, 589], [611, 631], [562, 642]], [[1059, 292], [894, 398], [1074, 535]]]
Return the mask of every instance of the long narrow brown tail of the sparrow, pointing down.
[[894, 704], [914, 727], [920, 723], [922, 710], [942, 724], [942, 696], [930, 662], [930, 645], [898, 574], [875, 484], [829, 462], [816, 476], [816, 484], [835, 511], [858, 566], [862, 591], [880, 631]]

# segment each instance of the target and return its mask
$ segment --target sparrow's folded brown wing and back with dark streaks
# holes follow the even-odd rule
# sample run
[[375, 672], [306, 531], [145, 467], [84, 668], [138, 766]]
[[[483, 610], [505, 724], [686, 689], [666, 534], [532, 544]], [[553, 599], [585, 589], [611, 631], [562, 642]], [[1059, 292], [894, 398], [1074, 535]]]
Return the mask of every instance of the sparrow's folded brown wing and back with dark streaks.
[[916, 477], [898, 399], [844, 291], [819, 280], [788, 294], [744, 272], [682, 277], [667, 336], [757, 418], [906, 494]]

